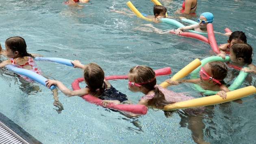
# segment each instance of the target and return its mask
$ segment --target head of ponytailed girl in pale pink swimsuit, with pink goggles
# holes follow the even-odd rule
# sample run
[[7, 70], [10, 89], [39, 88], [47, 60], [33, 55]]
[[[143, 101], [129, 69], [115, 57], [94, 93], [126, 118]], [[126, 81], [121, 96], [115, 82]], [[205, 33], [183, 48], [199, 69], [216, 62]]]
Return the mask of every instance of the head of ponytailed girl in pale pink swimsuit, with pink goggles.
[[139, 91], [142, 88], [151, 90], [156, 85], [155, 72], [149, 66], [135, 66], [130, 69], [128, 88]]

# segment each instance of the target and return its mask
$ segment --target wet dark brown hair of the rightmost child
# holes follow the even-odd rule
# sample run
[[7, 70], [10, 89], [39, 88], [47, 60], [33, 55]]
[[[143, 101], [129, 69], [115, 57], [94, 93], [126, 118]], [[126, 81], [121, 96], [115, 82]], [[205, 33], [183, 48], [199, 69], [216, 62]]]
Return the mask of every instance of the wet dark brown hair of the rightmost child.
[[236, 43], [233, 44], [230, 49], [233, 50], [233, 54], [236, 56], [236, 59], [241, 57], [244, 59], [246, 64], [252, 64], [252, 56], [254, 53], [252, 53], [252, 47], [249, 44]]

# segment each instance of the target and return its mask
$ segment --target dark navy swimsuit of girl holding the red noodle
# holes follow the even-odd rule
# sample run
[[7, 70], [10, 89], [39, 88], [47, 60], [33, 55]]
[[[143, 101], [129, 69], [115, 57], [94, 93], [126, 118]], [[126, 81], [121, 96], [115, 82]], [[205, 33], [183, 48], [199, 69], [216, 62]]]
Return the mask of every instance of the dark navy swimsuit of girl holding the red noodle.
[[127, 96], [123, 93], [117, 91], [112, 85], [111, 87], [107, 87], [106, 83], [104, 82], [104, 93], [100, 97], [101, 100], [119, 100], [120, 102], [124, 102], [127, 99]]

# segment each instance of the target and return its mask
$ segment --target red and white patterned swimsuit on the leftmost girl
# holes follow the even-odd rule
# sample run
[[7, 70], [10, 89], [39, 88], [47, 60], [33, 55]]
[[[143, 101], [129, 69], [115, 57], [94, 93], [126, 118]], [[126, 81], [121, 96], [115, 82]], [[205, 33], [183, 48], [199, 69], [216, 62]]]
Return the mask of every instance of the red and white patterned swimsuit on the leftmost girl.
[[[32, 57], [28, 57], [28, 61], [26, 62], [26, 64], [23, 64], [23, 65], [18, 65], [18, 64], [16, 64], [15, 63], [15, 61], [12, 59], [12, 58], [10, 58], [10, 61], [11, 61], [11, 64], [13, 65], [13, 66], [15, 66], [15, 67], [17, 67], [17, 68], [24, 68], [24, 66], [31, 66], [31, 71], [33, 71], [33, 72], [35, 72], [35, 73], [37, 73], [37, 74], [39, 74], [39, 75], [41, 75], [41, 70], [40, 69], [38, 69], [38, 68], [36, 68], [36, 64], [35, 64], [35, 61], [34, 61], [34, 59], [32, 58]], [[33, 80], [32, 79], [30, 79], [30, 78], [28, 78], [28, 77], [26, 77], [26, 76], [23, 76], [23, 75], [21, 75], [21, 74], [19, 74], [22, 78], [24, 78], [26, 81], [28, 81], [28, 82], [33, 82]]]

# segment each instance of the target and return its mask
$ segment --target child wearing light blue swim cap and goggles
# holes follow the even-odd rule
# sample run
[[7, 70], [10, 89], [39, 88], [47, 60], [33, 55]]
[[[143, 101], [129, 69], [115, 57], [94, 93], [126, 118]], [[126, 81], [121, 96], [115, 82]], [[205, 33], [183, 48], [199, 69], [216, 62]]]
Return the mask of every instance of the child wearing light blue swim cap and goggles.
[[188, 25], [180, 27], [176, 30], [176, 34], [179, 35], [183, 30], [195, 30], [196, 32], [207, 33], [207, 24], [213, 23], [213, 14], [209, 12], [204, 12], [200, 15], [198, 19], [198, 24]]

